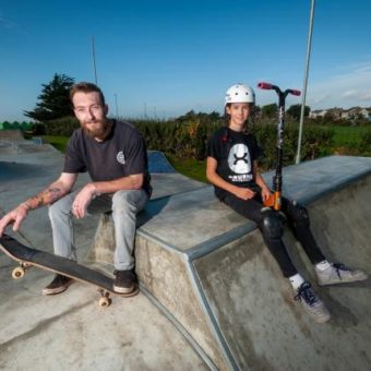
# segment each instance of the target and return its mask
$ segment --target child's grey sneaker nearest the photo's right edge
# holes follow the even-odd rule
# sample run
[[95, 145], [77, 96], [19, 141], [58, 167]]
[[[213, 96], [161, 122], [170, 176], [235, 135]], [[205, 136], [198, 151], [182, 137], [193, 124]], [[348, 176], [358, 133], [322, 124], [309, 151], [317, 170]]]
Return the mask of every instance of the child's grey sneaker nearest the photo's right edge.
[[315, 273], [320, 286], [354, 283], [368, 278], [364, 272], [350, 270], [342, 263], [332, 263], [327, 270], [322, 272], [316, 268]]

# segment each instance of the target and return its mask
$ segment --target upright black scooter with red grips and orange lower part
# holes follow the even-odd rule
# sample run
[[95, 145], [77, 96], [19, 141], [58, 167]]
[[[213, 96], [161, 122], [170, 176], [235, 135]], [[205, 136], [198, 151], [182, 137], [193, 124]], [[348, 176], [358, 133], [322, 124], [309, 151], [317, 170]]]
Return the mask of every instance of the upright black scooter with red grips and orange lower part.
[[285, 127], [285, 100], [288, 94], [300, 96], [301, 92], [287, 88], [282, 91], [278, 86], [270, 83], [260, 82], [258, 87], [262, 89], [273, 89], [278, 95], [278, 124], [277, 124], [277, 144], [276, 144], [276, 171], [273, 177], [273, 193], [264, 202], [265, 207], [279, 211], [282, 207], [282, 188], [283, 188], [283, 145], [284, 145], [284, 127]]

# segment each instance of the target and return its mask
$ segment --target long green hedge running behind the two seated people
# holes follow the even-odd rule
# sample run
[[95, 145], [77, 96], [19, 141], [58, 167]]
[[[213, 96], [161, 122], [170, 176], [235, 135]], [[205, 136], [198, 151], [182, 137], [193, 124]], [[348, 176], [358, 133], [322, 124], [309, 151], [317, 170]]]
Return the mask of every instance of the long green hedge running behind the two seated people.
[[[200, 119], [189, 121], [130, 120], [141, 131], [148, 149], [163, 151], [177, 157], [205, 159], [206, 143], [212, 132], [223, 124], [223, 120], [202, 122]], [[64, 118], [46, 123], [49, 135], [70, 136], [79, 122], [74, 118]], [[272, 169], [276, 161], [277, 127], [275, 120], [260, 119], [251, 125], [251, 132], [264, 149], [262, 169]], [[334, 129], [318, 124], [304, 124], [301, 160], [326, 156], [332, 153]], [[370, 135], [363, 135], [364, 151], [371, 147]], [[284, 165], [295, 163], [298, 145], [298, 124], [287, 122], [284, 130]]]

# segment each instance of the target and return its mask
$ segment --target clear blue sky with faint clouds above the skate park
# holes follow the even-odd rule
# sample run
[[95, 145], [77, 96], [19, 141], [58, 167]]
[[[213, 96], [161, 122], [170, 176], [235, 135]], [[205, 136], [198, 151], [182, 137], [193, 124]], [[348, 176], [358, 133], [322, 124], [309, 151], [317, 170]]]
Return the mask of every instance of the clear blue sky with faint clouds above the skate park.
[[[223, 110], [225, 91], [302, 88], [311, 1], [0, 0], [0, 121], [25, 120], [55, 73], [94, 82], [111, 115]], [[316, 0], [307, 105], [371, 106], [371, 1]], [[259, 105], [276, 101], [258, 91]], [[290, 97], [287, 107], [301, 103]]]

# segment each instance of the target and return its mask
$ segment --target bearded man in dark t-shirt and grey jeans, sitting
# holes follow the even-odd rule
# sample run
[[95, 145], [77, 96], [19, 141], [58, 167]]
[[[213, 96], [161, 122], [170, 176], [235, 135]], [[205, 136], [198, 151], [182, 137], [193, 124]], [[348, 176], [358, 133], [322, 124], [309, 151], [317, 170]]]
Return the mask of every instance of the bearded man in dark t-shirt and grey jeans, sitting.
[[[108, 106], [96, 85], [75, 84], [70, 97], [81, 128], [68, 143], [63, 172], [3, 216], [0, 237], [9, 224], [14, 223], [16, 231], [28, 212], [49, 205], [55, 253], [76, 260], [72, 217], [111, 212], [116, 238], [113, 290], [130, 295], [137, 289], [133, 258], [136, 214], [152, 192], [145, 143], [132, 124], [107, 118]], [[84, 171], [92, 181], [73, 190], [79, 172]], [[71, 278], [56, 275], [43, 294], [63, 292], [71, 283]]]

